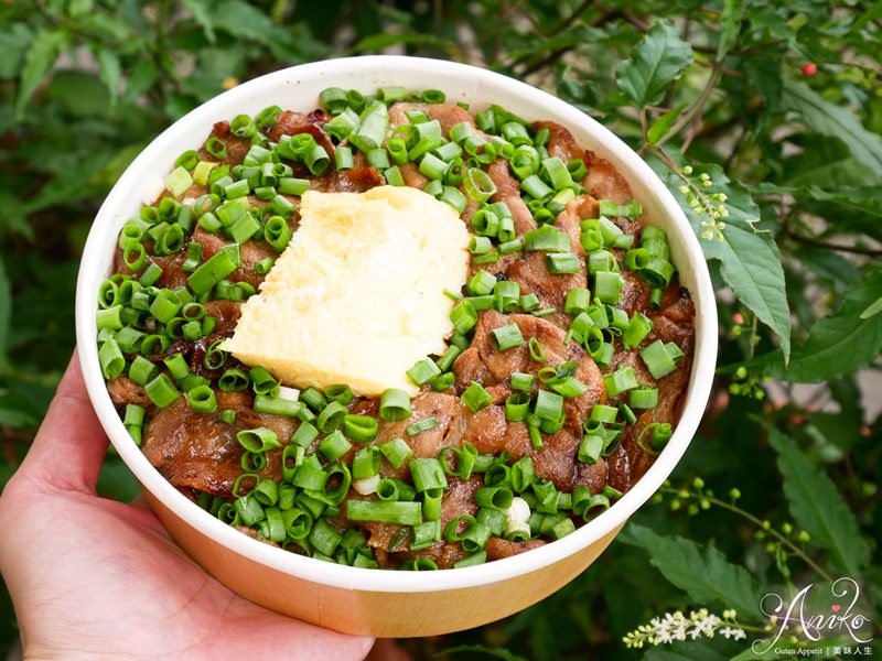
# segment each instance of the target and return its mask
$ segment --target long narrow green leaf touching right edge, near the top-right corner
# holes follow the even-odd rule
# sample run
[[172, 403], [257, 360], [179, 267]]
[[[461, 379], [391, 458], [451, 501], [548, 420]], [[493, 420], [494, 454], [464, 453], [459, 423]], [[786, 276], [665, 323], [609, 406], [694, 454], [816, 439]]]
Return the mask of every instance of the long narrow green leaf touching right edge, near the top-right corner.
[[831, 104], [805, 83], [795, 80], [784, 82], [783, 101], [811, 130], [845, 142], [851, 155], [882, 180], [882, 136], [864, 129], [851, 110]]

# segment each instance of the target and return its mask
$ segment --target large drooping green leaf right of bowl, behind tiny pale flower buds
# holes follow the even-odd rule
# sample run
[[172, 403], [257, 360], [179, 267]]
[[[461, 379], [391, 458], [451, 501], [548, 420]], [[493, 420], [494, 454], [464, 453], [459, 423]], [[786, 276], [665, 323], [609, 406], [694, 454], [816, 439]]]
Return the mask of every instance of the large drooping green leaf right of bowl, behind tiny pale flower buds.
[[[727, 195], [729, 209], [723, 240], [700, 239], [704, 258], [720, 262], [720, 273], [738, 300], [778, 336], [786, 360], [790, 353], [790, 311], [778, 248], [770, 232], [756, 229], [760, 209], [743, 186], [730, 182], [719, 165], [700, 165], [695, 170], [710, 175], [711, 191]], [[701, 236], [701, 221], [707, 215], [691, 212], [686, 196], [679, 192], [680, 183], [676, 174], [668, 175], [668, 186], [696, 234]]]

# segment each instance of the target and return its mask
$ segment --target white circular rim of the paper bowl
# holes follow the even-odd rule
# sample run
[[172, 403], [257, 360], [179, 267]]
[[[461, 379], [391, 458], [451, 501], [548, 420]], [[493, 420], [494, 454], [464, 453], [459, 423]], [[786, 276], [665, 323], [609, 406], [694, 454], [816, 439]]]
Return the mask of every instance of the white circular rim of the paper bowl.
[[[115, 207], [120, 202], [125, 202], [128, 191], [139, 184], [143, 185], [142, 182], [139, 182], [141, 170], [151, 161], [153, 154], [159, 153], [178, 137], [186, 136], [191, 130], [204, 131], [205, 127], [213, 123], [212, 113], [215, 105], [223, 105], [236, 98], [247, 98], [249, 95], [271, 96], [275, 88], [289, 85], [292, 79], [324, 78], [333, 80], [335, 75], [355, 72], [370, 76], [375, 75], [377, 71], [381, 71], [384, 74], [419, 72], [426, 76], [427, 80], [432, 79], [433, 73], [454, 75], [470, 82], [478, 80], [482, 85], [502, 89], [515, 96], [529, 96], [531, 104], [566, 118], [568, 123], [564, 126], [580, 127], [590, 133], [603, 149], [615, 153], [617, 169], [621, 170], [624, 166], [630, 170], [633, 176], [638, 177], [649, 193], [656, 197], [671, 227], [676, 228], [685, 249], [685, 259], [689, 262], [696, 281], [696, 286], [690, 288], [690, 294], [696, 303], [696, 354], [687, 401], [671, 440], [649, 470], [614, 507], [561, 540], [512, 557], [455, 571], [421, 572], [418, 577], [411, 572], [366, 570], [321, 562], [271, 546], [241, 534], [179, 492], [153, 468], [141, 449], [132, 442], [110, 401], [98, 362], [96, 346], [97, 329], [94, 303], [96, 292], [90, 291], [89, 285], [94, 280], [95, 271], [101, 264], [101, 254], [109, 249], [109, 243], [116, 245], [115, 235], [112, 241], [108, 239], [108, 229], [115, 221]], [[152, 174], [155, 175], [155, 173]], [[166, 128], [132, 161], [98, 210], [83, 252], [76, 291], [77, 344], [89, 399], [111, 443], [142, 488], [149, 490], [165, 508], [200, 533], [254, 562], [331, 587], [383, 593], [449, 590], [506, 581], [578, 553], [624, 524], [628, 517], [670, 475], [698, 429], [710, 395], [716, 368], [717, 332], [713, 288], [698, 239], [679, 204], [662, 180], [621, 139], [587, 113], [526, 83], [466, 64], [400, 55], [345, 57], [280, 69], [243, 83], [209, 99]]]

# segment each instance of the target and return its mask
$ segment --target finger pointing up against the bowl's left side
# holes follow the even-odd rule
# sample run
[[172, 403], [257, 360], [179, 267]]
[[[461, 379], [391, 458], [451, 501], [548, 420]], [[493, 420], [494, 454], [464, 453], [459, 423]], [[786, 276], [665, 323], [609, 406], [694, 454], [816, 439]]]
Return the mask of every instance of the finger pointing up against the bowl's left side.
[[74, 350], [22, 470], [57, 488], [93, 494], [107, 443]]

